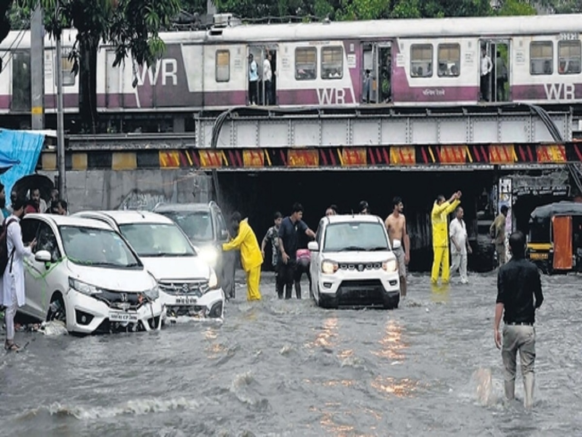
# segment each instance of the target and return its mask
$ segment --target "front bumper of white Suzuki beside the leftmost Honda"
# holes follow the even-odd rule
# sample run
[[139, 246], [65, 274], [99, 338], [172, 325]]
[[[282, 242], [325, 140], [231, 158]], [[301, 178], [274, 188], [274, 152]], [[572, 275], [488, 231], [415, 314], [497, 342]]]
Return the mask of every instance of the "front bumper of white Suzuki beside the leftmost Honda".
[[179, 318], [222, 319], [224, 315], [225, 295], [222, 288], [209, 290], [203, 295], [169, 294], [162, 292], [162, 301], [166, 306], [166, 319], [176, 322]]

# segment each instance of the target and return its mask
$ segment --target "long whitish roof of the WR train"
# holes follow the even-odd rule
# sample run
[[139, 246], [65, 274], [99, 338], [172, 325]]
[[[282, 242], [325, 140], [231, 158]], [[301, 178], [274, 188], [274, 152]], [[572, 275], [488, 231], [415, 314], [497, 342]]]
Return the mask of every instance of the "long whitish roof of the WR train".
[[[166, 43], [275, 43], [278, 41], [308, 40], [365, 40], [381, 38], [422, 37], [507, 37], [580, 33], [582, 14], [534, 15], [509, 17], [455, 17], [431, 19], [370, 20], [327, 23], [240, 24], [215, 27], [210, 30], [162, 32]], [[76, 30], [63, 31], [63, 45], [72, 45]], [[0, 44], [6, 50], [16, 40], [17, 46], [30, 47], [30, 33], [15, 30]], [[20, 41], [19, 41], [20, 40]], [[19, 42], [18, 42], [19, 41]], [[45, 37], [45, 47], [54, 39]]]

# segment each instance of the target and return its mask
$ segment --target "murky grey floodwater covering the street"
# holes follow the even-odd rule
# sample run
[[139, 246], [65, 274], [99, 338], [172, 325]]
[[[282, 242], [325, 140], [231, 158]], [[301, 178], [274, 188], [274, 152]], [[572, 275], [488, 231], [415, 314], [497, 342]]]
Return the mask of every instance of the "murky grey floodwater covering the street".
[[494, 273], [439, 290], [410, 276], [393, 311], [279, 301], [271, 275], [262, 302], [239, 284], [222, 325], [17, 333], [29, 345], [0, 358], [2, 434], [582, 435], [579, 276], [542, 279], [527, 411], [519, 371], [518, 400], [503, 401]]

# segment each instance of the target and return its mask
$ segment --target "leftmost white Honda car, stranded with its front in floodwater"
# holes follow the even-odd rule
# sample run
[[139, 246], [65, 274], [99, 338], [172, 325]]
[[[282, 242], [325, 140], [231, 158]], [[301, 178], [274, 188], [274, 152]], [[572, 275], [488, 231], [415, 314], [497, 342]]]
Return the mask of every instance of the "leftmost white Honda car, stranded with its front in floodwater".
[[61, 320], [79, 334], [152, 330], [165, 318], [159, 288], [137, 254], [104, 223], [28, 214], [23, 240], [37, 239], [24, 258], [26, 304], [19, 313]]

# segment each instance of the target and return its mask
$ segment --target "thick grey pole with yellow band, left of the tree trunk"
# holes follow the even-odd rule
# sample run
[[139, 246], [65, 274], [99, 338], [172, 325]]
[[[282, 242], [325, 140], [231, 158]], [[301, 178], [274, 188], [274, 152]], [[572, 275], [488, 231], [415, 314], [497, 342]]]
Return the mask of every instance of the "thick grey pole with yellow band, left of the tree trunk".
[[40, 3], [30, 20], [31, 126], [44, 129], [44, 12]]

